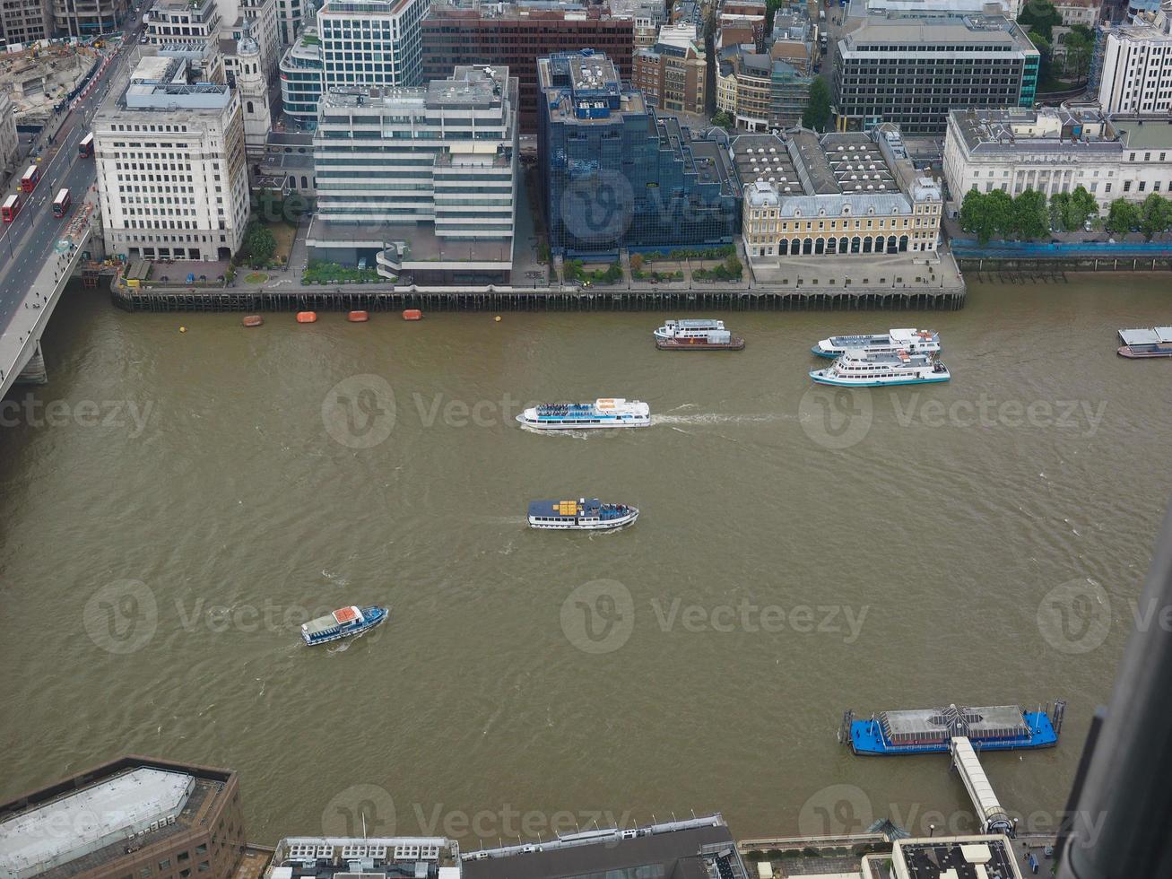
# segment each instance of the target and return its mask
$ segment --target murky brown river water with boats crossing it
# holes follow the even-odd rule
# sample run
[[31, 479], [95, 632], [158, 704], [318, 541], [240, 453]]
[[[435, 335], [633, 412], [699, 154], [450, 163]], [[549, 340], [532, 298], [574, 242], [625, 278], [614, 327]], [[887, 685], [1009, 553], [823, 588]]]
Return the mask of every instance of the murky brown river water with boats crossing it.
[[[0, 799], [124, 752], [241, 774], [247, 834], [456, 836], [720, 810], [738, 837], [972, 830], [946, 756], [863, 758], [843, 711], [1068, 701], [982, 756], [1052, 829], [1172, 496], [1166, 277], [972, 285], [947, 313], [127, 314], [74, 291], [0, 427]], [[686, 316], [686, 315], [684, 315]], [[179, 326], [186, 327], [179, 333]], [[948, 384], [813, 389], [810, 346], [921, 325]], [[626, 396], [546, 436], [525, 402]], [[525, 527], [536, 498], [641, 509]], [[300, 622], [390, 622], [345, 649]]]

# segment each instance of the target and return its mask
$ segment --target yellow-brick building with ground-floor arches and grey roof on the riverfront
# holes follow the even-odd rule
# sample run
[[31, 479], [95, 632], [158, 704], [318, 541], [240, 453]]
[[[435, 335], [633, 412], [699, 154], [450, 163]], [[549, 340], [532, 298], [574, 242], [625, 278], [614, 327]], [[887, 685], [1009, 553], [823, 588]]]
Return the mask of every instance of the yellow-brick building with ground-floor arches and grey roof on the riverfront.
[[730, 149], [744, 186], [750, 261], [935, 252], [941, 190], [917, 173], [899, 130], [742, 135]]

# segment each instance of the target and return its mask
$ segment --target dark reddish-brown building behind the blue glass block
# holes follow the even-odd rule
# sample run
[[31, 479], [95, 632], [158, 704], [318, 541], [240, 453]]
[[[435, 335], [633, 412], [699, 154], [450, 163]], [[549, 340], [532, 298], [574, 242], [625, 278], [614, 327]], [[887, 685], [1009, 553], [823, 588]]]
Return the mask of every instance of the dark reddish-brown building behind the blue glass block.
[[520, 87], [522, 134], [537, 132], [537, 60], [558, 52], [595, 49], [632, 75], [634, 20], [611, 16], [607, 6], [540, 9], [506, 5], [503, 12], [434, 6], [422, 22], [423, 79], [451, 76], [456, 64], [507, 64]]

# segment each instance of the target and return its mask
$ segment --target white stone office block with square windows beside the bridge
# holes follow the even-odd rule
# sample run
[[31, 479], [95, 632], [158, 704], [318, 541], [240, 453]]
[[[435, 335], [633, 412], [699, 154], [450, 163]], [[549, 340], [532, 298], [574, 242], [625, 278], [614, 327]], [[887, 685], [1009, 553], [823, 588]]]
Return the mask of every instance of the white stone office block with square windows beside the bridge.
[[237, 91], [182, 56], [146, 56], [94, 118], [107, 250], [130, 259], [224, 260], [248, 220]]

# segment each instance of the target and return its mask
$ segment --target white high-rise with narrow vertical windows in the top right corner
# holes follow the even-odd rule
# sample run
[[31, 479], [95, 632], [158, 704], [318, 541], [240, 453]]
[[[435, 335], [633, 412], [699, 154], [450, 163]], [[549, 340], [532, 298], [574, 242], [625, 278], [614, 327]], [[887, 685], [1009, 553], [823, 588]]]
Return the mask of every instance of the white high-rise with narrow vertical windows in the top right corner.
[[1103, 47], [1098, 102], [1106, 114], [1172, 110], [1172, 0], [1152, 23], [1111, 28]]

